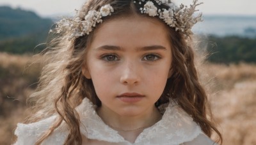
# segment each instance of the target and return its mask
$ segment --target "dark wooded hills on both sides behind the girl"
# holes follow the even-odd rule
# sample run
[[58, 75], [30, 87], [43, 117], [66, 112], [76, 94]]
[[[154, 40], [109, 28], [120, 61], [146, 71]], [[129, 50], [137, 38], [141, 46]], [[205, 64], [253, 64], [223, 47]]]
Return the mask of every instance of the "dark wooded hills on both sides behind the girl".
[[[0, 6], [0, 52], [41, 52], [52, 25], [51, 19], [40, 18], [32, 11]], [[256, 38], [208, 36], [203, 41], [207, 44], [210, 62], [256, 62]]]

